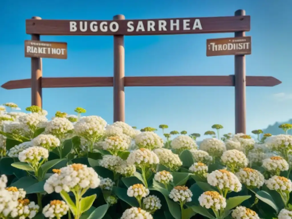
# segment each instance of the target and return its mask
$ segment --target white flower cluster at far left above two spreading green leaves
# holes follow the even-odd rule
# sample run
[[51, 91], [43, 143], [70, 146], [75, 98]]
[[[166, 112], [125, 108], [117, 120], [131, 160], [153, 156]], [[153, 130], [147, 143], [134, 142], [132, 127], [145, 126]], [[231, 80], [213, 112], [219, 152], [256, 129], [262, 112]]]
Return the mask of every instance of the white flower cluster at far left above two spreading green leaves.
[[32, 166], [37, 166], [39, 161], [43, 159], [48, 159], [49, 151], [43, 147], [29, 147], [19, 153], [18, 159], [20, 162], [26, 162], [32, 164]]

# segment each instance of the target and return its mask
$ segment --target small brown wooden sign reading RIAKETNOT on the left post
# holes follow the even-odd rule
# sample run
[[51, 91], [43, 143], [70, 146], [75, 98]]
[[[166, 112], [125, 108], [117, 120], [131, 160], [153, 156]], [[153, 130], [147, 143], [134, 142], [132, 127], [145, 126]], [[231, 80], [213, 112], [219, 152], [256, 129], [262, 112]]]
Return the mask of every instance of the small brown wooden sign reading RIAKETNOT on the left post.
[[24, 44], [25, 57], [67, 59], [67, 43], [25, 40]]

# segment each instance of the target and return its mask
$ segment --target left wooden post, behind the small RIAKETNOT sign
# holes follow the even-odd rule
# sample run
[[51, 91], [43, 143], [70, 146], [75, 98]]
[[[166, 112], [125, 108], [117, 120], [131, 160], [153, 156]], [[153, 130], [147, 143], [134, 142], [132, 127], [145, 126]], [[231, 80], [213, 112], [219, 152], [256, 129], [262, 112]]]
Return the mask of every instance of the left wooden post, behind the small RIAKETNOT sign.
[[[41, 20], [40, 17], [32, 17], [32, 19]], [[40, 40], [39, 34], [32, 34], [32, 40]], [[42, 77], [42, 61], [41, 58], [31, 58], [32, 68], [32, 105], [42, 107], [42, 91], [41, 91], [41, 77]]]

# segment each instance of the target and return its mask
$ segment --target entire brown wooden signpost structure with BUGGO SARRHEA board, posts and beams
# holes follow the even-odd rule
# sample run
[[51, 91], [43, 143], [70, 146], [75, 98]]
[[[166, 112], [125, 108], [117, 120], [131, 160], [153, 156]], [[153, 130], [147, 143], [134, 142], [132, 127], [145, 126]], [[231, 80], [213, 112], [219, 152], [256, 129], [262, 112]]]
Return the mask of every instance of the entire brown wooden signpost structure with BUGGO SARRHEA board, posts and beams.
[[[113, 20], [41, 20], [39, 17], [33, 17], [26, 20], [26, 33], [32, 34], [33, 41], [39, 41], [40, 35], [114, 36], [113, 77], [42, 78], [41, 58], [58, 58], [63, 56], [59, 54], [58, 57], [44, 57], [42, 53], [42, 55], [37, 56], [38, 58], [35, 58], [36, 55], [32, 56], [30, 52], [29, 55], [31, 56], [27, 55], [27, 57], [32, 57], [31, 79], [8, 81], [1, 87], [5, 89], [32, 88], [32, 105], [41, 107], [41, 88], [113, 86], [114, 121], [125, 121], [125, 86], [234, 86], [235, 133], [246, 133], [246, 86], [275, 86], [281, 83], [281, 81], [274, 77], [246, 77], [245, 55], [251, 54], [251, 38], [245, 37], [245, 31], [249, 30], [250, 16], [246, 16], [244, 10], [238, 10], [235, 12], [235, 16], [229, 17], [151, 20], [125, 20], [124, 15], [116, 15]], [[227, 32], [234, 32], [235, 38], [207, 40], [207, 56], [234, 55], [235, 70], [232, 75], [125, 77], [125, 35]], [[232, 49], [229, 49], [231, 48], [231, 45], [228, 45], [229, 42], [235, 44], [235, 46], [232, 46]], [[44, 42], [39, 41], [39, 43]], [[225, 44], [227, 44], [227, 47]], [[61, 47], [57, 48], [61, 49]], [[35, 49], [29, 51], [34, 53]]]

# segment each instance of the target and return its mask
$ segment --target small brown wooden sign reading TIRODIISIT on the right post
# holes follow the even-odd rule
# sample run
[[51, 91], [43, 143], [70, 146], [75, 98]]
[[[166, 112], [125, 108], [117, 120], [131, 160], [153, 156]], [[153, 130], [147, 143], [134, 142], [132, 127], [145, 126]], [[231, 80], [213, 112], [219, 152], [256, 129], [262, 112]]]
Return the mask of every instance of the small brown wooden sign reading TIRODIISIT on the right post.
[[207, 39], [207, 56], [250, 54], [251, 36]]

